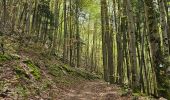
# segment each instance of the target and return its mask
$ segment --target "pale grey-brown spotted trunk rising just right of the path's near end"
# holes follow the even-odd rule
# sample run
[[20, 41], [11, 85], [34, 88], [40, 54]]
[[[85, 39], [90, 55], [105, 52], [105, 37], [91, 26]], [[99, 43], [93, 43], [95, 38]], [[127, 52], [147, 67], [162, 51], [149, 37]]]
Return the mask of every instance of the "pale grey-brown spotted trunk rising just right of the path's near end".
[[137, 56], [136, 56], [136, 36], [135, 25], [133, 19], [133, 9], [130, 0], [126, 0], [127, 3], [127, 15], [128, 15], [128, 33], [130, 40], [130, 61], [132, 66], [132, 88], [134, 91], [138, 89], [138, 74], [137, 74]]

